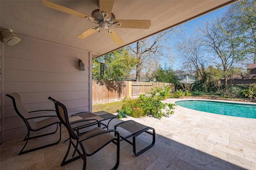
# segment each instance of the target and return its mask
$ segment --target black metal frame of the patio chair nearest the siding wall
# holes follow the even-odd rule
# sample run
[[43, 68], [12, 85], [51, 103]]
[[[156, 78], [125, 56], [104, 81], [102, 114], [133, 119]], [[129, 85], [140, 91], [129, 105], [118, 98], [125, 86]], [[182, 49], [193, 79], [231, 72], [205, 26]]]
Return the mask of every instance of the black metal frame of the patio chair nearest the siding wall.
[[[26, 127], [28, 129], [28, 134], [26, 135], [26, 137], [23, 140], [23, 141], [26, 141], [26, 143], [25, 143], [24, 147], [20, 150], [19, 155], [25, 154], [25, 153], [28, 153], [28, 152], [32, 152], [32, 151], [35, 151], [35, 150], [38, 150], [38, 149], [43, 149], [43, 148], [46, 148], [46, 147], [50, 147], [50, 146], [56, 145], [57, 143], [60, 142], [60, 139], [61, 139], [61, 123], [60, 123], [60, 121], [48, 124], [48, 125], [46, 125], [44, 127], [41, 127], [39, 129], [32, 129], [30, 124], [28, 123], [28, 120], [30, 120], [30, 119], [43, 118], [43, 117], [46, 117], [46, 118], [47, 117], [57, 117], [56, 115], [44, 115], [44, 116], [36, 116], [36, 117], [25, 118], [22, 115], [22, 113], [20, 113], [19, 109], [17, 108], [15, 98], [13, 96], [11, 96], [11, 94], [6, 94], [6, 96], [8, 96], [9, 98], [12, 99], [13, 107], [14, 107], [16, 113], [23, 119], [23, 121], [26, 124]], [[36, 111], [28, 111], [28, 113], [40, 112], [40, 111], [55, 111], [55, 110], [36, 110]], [[30, 131], [39, 131], [39, 130], [42, 130], [42, 129], [46, 128], [46, 127], [52, 126], [54, 124], [57, 125], [57, 128], [56, 128], [56, 130], [54, 132], [50, 132], [50, 133], [46, 133], [46, 134], [43, 134], [43, 135], [37, 135], [37, 136], [30, 137]], [[48, 145], [44, 145], [44, 146], [41, 146], [41, 147], [36, 147], [36, 148], [33, 148], [33, 149], [29, 149], [29, 150], [23, 151], [25, 149], [27, 143], [28, 143], [28, 140], [35, 139], [35, 138], [38, 138], [38, 137], [43, 137], [43, 136], [46, 136], [46, 135], [54, 134], [54, 133], [56, 133], [56, 131], [58, 131], [58, 125], [60, 126], [60, 139], [57, 142], [50, 143]]]

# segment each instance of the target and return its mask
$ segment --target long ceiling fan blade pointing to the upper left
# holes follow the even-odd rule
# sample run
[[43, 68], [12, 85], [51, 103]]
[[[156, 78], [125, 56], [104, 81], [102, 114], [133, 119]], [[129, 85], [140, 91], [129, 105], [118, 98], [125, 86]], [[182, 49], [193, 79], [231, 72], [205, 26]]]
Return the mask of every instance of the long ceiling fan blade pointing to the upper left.
[[65, 13], [71, 14], [71, 15], [73, 15], [73, 16], [78, 16], [78, 17], [83, 18], [83, 19], [85, 19], [86, 17], [89, 17], [89, 18], [92, 18], [92, 19], [94, 20], [94, 18], [91, 17], [91, 16], [88, 16], [88, 15], [83, 14], [83, 13], [81, 13], [81, 12], [78, 12], [78, 11], [76, 11], [76, 10], [72, 10], [72, 9], [67, 8], [67, 7], [65, 7], [65, 6], [61, 6], [61, 5], [59, 5], [59, 4], [55, 4], [55, 3], [50, 2], [50, 1], [48, 1], [48, 0], [43, 0], [42, 3], [44, 4], [44, 6], [46, 6], [46, 7], [48, 7], [48, 8], [52, 8], [52, 9], [54, 9], [54, 10], [58, 10], [58, 11], [61, 11], [61, 12], [65, 12]]

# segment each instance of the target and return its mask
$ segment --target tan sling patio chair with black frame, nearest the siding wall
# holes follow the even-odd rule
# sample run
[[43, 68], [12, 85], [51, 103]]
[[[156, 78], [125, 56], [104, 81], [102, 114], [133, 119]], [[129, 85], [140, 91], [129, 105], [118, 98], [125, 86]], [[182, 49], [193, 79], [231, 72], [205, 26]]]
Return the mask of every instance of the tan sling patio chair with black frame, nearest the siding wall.
[[[12, 99], [13, 107], [14, 107], [16, 113], [23, 119], [23, 121], [26, 124], [26, 127], [28, 129], [28, 134], [24, 138], [24, 141], [26, 140], [26, 143], [25, 143], [24, 147], [21, 149], [19, 155], [25, 154], [25, 153], [28, 153], [28, 152], [32, 152], [32, 151], [35, 151], [35, 150], [38, 150], [38, 149], [43, 149], [43, 148], [46, 148], [46, 147], [50, 147], [50, 146], [56, 145], [57, 143], [60, 142], [60, 139], [61, 139], [61, 123], [60, 123], [60, 120], [58, 119], [58, 117], [56, 115], [42, 115], [42, 116], [36, 116], [36, 117], [32, 117], [30, 115], [30, 113], [32, 113], [32, 112], [55, 111], [55, 110], [27, 111], [23, 107], [20, 95], [18, 93], [14, 92], [14, 93], [6, 94], [6, 96]], [[36, 118], [46, 118], [46, 119], [43, 119], [43, 120], [40, 120], [40, 121], [34, 121], [33, 119], [36, 119]], [[58, 130], [58, 125], [60, 126], [60, 139], [57, 142], [50, 143], [48, 145], [44, 145], [44, 146], [41, 146], [41, 147], [37, 147], [37, 148], [33, 148], [33, 149], [23, 151], [24, 148], [26, 147], [27, 143], [28, 143], [28, 140], [35, 139], [35, 138], [38, 138], [38, 137], [43, 137], [43, 136], [46, 136], [46, 135], [51, 135], [51, 134], [56, 132], [56, 131], [54, 131], [54, 132], [46, 133], [46, 134], [43, 134], [43, 135], [37, 135], [37, 136], [30, 137], [30, 131], [39, 131], [39, 130], [42, 130], [46, 127], [52, 126], [54, 124], [57, 125], [56, 131]]]

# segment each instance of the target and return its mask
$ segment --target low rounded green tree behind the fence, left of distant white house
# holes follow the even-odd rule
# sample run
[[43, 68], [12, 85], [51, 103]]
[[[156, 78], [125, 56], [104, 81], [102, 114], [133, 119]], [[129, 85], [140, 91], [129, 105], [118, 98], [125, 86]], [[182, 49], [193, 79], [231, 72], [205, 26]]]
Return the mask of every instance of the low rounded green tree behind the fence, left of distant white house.
[[178, 76], [174, 74], [174, 71], [171, 68], [162, 68], [160, 66], [153, 75], [157, 82], [179, 84]]

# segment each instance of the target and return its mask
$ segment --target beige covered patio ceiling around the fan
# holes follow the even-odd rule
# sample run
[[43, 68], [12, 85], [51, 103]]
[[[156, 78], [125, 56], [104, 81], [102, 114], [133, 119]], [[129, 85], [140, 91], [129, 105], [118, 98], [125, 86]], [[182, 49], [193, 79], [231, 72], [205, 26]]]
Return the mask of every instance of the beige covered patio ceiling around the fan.
[[[85, 39], [77, 35], [96, 26], [95, 23], [66, 14], [42, 4], [41, 0], [1, 0], [0, 25], [17, 34], [60, 43], [87, 51], [100, 57], [165, 29], [212, 12], [237, 0], [115, 0], [112, 13], [116, 20], [151, 20], [149, 29], [116, 28], [124, 41], [116, 45], [105, 30]], [[56, 4], [90, 15], [97, 0], [56, 0]]]

